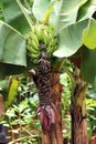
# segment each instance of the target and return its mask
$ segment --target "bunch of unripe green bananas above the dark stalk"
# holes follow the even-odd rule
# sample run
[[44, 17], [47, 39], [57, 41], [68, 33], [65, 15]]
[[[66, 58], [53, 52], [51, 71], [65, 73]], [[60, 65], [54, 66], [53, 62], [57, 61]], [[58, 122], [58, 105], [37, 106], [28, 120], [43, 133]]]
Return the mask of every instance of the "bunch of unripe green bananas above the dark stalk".
[[46, 52], [49, 55], [57, 49], [57, 38], [52, 25], [36, 24], [26, 35], [26, 49], [31, 60], [36, 63], [38, 55]]

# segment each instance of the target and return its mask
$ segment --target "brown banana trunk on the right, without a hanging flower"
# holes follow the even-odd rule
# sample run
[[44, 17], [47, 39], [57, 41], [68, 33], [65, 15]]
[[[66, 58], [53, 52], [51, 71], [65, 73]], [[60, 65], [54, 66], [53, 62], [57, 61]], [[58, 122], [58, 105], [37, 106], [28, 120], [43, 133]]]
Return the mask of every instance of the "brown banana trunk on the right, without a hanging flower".
[[85, 92], [87, 84], [75, 73], [75, 88], [71, 99], [72, 143], [88, 144]]

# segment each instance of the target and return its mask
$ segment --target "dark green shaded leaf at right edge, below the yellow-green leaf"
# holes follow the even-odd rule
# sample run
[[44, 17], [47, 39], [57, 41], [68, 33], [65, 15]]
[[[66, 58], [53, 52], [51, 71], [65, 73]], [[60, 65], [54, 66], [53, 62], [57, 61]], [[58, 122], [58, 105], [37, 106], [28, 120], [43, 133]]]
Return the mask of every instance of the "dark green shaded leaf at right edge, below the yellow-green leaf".
[[92, 84], [96, 83], [96, 49], [89, 50], [83, 47], [81, 71], [85, 81]]

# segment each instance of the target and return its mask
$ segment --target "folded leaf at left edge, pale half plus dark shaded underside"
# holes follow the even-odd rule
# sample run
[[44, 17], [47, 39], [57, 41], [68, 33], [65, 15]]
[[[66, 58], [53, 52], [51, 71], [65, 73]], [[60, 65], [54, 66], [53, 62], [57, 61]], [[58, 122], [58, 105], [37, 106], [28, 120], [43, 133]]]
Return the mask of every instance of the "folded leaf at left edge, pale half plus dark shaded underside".
[[0, 79], [23, 73], [33, 66], [26, 55], [24, 37], [0, 21]]

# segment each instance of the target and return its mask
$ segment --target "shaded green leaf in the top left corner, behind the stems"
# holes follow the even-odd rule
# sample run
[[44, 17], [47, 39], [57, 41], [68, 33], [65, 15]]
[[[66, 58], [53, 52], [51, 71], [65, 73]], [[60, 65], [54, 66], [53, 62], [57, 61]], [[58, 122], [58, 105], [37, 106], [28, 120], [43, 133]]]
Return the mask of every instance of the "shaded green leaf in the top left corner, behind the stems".
[[0, 0], [0, 2], [3, 4], [2, 13], [4, 22], [9, 23], [21, 33], [25, 33], [30, 27], [17, 0]]

